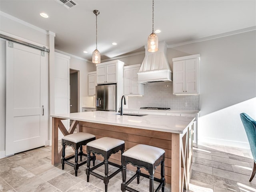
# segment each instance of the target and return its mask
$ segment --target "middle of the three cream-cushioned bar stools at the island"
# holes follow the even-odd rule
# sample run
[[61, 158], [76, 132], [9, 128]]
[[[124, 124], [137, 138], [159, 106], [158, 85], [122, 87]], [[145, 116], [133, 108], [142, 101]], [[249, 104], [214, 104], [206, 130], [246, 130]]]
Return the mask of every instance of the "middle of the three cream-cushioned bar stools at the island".
[[[109, 180], [114, 177], [116, 174], [118, 174], [120, 171], [122, 171], [122, 166], [115, 164], [113, 162], [109, 162], [108, 159], [111, 156], [111, 154], [114, 154], [121, 150], [121, 154], [124, 152], [124, 141], [110, 138], [110, 137], [103, 137], [100, 139], [97, 139], [95, 141], [91, 141], [87, 143], [87, 169], [86, 169], [86, 175], [87, 175], [87, 182], [89, 182], [90, 174], [93, 176], [96, 176], [97, 178], [100, 178], [103, 180], [105, 184], [105, 192], [108, 191], [108, 182]], [[93, 153], [94, 155], [101, 155], [104, 157], [104, 161], [100, 164], [90, 168], [90, 153]], [[96, 172], [93, 172], [94, 169], [102, 166], [104, 164], [105, 166], [105, 176], [101, 176], [100, 174], [97, 174]], [[111, 175], [108, 175], [108, 164], [118, 167], [119, 169], [116, 170]]]

